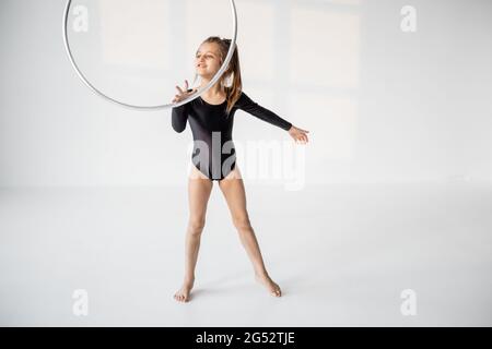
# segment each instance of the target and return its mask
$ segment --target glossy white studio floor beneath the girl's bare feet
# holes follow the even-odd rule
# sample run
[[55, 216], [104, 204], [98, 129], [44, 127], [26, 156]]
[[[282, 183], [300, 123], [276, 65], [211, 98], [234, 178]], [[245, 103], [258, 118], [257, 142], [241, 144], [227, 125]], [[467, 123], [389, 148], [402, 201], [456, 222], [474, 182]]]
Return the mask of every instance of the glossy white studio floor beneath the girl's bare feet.
[[185, 188], [2, 189], [0, 325], [492, 325], [492, 185], [246, 185], [280, 299], [254, 281], [216, 184], [185, 304]]

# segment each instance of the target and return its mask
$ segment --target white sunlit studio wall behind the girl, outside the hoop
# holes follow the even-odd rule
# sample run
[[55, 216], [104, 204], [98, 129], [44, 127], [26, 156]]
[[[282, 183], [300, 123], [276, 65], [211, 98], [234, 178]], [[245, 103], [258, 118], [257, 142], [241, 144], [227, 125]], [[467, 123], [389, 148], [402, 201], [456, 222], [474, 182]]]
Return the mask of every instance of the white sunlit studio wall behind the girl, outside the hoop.
[[[171, 110], [127, 110], [79, 81], [65, 3], [1, 1], [0, 185], [185, 185], [189, 129], [174, 132]], [[412, 1], [413, 32], [409, 4], [236, 1], [244, 91], [311, 131], [297, 145], [306, 184], [492, 179], [492, 2]], [[200, 31], [186, 9], [176, 21]], [[293, 143], [243, 111], [234, 139]]]

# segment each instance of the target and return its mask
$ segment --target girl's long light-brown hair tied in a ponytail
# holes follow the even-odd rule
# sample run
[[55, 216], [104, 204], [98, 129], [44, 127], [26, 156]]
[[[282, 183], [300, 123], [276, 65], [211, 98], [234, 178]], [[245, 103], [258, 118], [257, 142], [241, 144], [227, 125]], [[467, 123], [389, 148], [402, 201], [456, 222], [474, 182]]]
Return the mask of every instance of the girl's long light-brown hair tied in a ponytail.
[[[231, 47], [231, 39], [223, 39], [219, 36], [209, 36], [203, 40], [206, 43], [215, 43], [219, 46], [219, 53], [221, 55], [221, 65], [223, 64], [225, 57], [227, 56], [229, 49]], [[197, 79], [197, 75], [195, 75]], [[229, 84], [226, 85], [226, 82]], [[225, 89], [225, 98], [227, 100], [227, 115], [236, 104], [237, 99], [241, 97], [241, 92], [243, 89], [243, 82], [241, 80], [241, 67], [239, 67], [239, 53], [237, 51], [237, 45], [234, 48], [234, 53], [229, 63], [227, 69], [222, 74], [219, 82], [221, 86]]]

